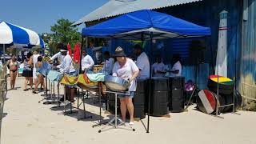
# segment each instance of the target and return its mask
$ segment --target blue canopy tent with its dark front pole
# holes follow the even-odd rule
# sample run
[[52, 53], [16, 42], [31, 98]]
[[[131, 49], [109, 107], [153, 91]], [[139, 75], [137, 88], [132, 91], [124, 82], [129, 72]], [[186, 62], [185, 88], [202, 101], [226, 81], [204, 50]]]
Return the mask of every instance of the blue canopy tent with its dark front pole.
[[[150, 40], [150, 73], [152, 65], [151, 51], [154, 39], [203, 37], [210, 34], [209, 27], [198, 26], [180, 18], [152, 10], [138, 10], [82, 29], [83, 37]], [[147, 133], [149, 133], [150, 122], [150, 95]]]

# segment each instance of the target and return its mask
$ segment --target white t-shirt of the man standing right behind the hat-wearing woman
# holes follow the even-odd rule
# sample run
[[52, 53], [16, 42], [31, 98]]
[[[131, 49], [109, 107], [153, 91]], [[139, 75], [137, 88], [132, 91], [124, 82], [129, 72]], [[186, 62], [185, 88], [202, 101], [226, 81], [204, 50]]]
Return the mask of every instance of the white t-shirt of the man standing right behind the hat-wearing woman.
[[145, 52], [142, 52], [137, 58], [136, 65], [140, 70], [138, 79], [150, 78], [150, 61]]

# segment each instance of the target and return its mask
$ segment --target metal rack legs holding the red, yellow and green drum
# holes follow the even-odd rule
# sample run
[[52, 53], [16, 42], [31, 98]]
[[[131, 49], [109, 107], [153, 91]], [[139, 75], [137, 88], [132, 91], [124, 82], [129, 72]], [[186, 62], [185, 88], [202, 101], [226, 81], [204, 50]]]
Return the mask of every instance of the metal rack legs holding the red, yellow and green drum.
[[[218, 75], [218, 74], [217, 74], [217, 75]], [[218, 106], [218, 97], [219, 97], [219, 84], [218, 84], [218, 82], [219, 82], [219, 76], [217, 76], [217, 102], [216, 102], [216, 114], [214, 114], [214, 116], [217, 117], [217, 118], [222, 118], [222, 119], [224, 119], [224, 117], [219, 116], [219, 114], [220, 114], [220, 113], [219, 113], [219, 109], [222, 108], [222, 107], [227, 107], [227, 106], [233, 106], [232, 114], [241, 115], [241, 114], [236, 113], [235, 108], [234, 108], [234, 101], [235, 101], [235, 100], [234, 100], [234, 92], [235, 92], [235, 90], [236, 90], [235, 78], [233, 78], [233, 80], [234, 80], [233, 102], [230, 103], [230, 104]]]

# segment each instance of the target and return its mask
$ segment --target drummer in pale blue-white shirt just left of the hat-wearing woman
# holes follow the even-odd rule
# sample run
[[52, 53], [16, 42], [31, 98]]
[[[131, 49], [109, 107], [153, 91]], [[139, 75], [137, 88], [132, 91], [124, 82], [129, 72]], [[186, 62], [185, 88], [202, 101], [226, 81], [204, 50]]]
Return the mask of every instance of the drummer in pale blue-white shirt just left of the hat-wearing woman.
[[112, 69], [114, 66], [114, 58], [110, 58], [109, 51], [104, 52], [104, 58], [105, 58], [105, 62], [102, 63], [103, 64], [102, 72], [106, 75], [110, 75], [112, 74]]

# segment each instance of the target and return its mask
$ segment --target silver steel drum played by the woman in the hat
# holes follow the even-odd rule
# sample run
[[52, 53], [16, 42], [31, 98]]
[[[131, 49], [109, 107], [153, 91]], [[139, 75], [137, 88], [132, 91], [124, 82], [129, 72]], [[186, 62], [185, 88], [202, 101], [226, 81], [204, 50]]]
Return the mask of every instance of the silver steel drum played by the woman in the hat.
[[105, 77], [105, 85], [113, 91], [126, 91], [130, 86], [130, 82], [125, 79], [108, 75]]

